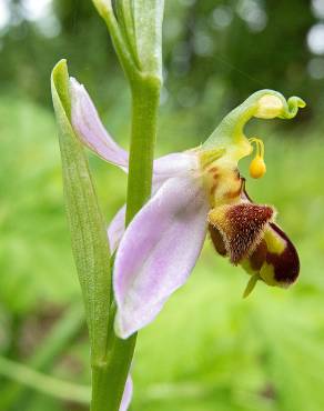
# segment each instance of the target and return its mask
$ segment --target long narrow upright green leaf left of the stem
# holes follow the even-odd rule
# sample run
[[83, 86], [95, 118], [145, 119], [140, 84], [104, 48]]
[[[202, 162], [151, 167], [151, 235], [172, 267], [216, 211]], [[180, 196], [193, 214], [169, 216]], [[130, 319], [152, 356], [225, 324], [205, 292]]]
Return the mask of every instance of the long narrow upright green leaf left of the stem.
[[59, 126], [63, 186], [72, 251], [82, 288], [94, 363], [104, 358], [111, 272], [105, 224], [83, 148], [70, 122], [69, 73], [61, 60], [51, 78]]

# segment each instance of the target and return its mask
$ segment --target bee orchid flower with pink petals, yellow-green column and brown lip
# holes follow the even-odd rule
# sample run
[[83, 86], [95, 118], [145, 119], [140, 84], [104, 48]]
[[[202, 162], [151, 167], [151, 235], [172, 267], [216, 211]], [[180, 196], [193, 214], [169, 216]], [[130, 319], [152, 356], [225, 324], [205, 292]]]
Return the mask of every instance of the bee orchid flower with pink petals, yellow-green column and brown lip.
[[[99, 157], [128, 171], [129, 157], [105, 131], [84, 87], [70, 80], [71, 119], [81, 142]], [[291, 119], [303, 100], [272, 90], [252, 94], [227, 114], [200, 147], [171, 153], [153, 164], [153, 196], [124, 229], [125, 208], [109, 229], [117, 250], [113, 290], [115, 332], [128, 338], [149, 324], [169, 297], [185, 283], [207, 232], [216, 252], [250, 274], [244, 295], [257, 280], [287, 287], [300, 270], [297, 252], [275, 223], [271, 206], [254, 203], [246, 193], [239, 161], [255, 152], [253, 178], [265, 172], [264, 147], [249, 139], [252, 118]]]

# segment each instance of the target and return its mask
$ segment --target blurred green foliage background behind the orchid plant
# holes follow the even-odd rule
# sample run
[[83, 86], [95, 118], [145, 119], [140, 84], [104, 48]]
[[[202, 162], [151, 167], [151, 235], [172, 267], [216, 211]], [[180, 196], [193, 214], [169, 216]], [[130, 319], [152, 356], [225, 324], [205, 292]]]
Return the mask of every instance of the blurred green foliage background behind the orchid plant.
[[[50, 71], [68, 59], [125, 148], [129, 90], [90, 0], [0, 0], [0, 410], [87, 410]], [[188, 284], [140, 333], [131, 410], [322, 411], [324, 0], [166, 0], [164, 63], [156, 156], [199, 144], [257, 89], [306, 100], [295, 120], [247, 128], [267, 164], [249, 193], [276, 207], [302, 270], [292, 289], [259, 284], [242, 300], [247, 275], [206, 241]], [[90, 162], [109, 221], [126, 181]]]

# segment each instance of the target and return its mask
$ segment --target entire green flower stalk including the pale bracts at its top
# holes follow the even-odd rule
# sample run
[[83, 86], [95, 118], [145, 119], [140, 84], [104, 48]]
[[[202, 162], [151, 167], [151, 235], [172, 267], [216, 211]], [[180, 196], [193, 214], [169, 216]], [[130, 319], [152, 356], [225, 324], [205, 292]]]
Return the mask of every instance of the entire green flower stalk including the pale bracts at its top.
[[[131, 147], [125, 225], [151, 197], [156, 121], [162, 86], [163, 1], [93, 0], [110, 31], [132, 94]], [[111, 308], [111, 321], [115, 307]], [[93, 368], [92, 411], [118, 410], [129, 374], [136, 333], [118, 338], [111, 324], [107, 363]]]

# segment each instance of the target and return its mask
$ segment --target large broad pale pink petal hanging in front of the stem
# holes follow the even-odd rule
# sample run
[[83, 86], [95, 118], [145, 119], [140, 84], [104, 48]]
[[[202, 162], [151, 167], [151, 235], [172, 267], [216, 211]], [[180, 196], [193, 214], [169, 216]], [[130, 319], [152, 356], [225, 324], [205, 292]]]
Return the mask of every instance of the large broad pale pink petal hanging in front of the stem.
[[126, 229], [114, 264], [115, 330], [128, 338], [150, 323], [192, 271], [206, 234], [201, 180], [169, 179]]

